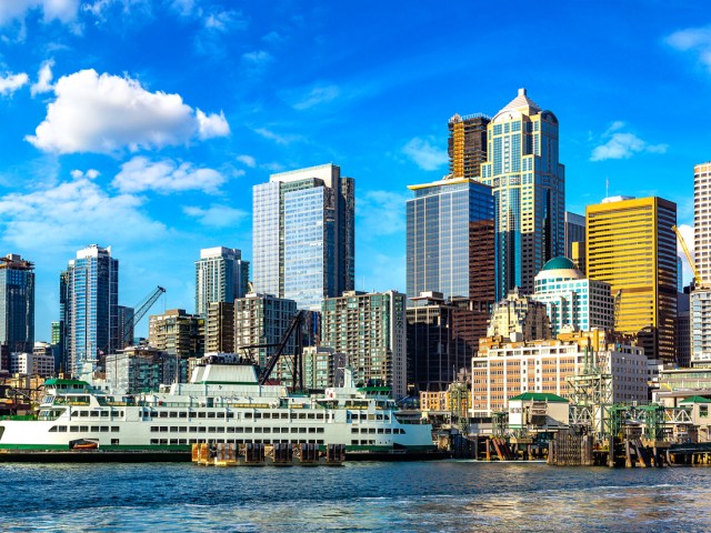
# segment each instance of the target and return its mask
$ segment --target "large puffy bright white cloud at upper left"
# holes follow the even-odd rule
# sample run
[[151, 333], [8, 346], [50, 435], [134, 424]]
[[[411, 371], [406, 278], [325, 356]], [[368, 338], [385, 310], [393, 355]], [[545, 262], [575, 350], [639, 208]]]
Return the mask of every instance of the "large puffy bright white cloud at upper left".
[[207, 115], [180, 94], [149, 92], [137, 80], [96, 70], [61, 77], [44, 121], [26, 139], [54, 153], [112, 153], [162, 148], [229, 133], [224, 115]]

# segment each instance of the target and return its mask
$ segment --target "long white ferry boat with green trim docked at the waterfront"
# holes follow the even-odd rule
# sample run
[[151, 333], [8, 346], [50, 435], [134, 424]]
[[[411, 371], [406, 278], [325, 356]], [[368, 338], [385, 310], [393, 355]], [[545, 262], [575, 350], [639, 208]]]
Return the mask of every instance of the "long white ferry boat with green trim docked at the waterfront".
[[[348, 382], [347, 382], [348, 383]], [[189, 451], [198, 442], [344, 444], [347, 452], [433, 451], [430, 424], [399, 418], [383, 391], [354, 386], [289, 394], [260, 385], [252, 364], [207, 363], [190, 383], [119, 395], [51, 379], [33, 416], [0, 420], [11, 450]]]

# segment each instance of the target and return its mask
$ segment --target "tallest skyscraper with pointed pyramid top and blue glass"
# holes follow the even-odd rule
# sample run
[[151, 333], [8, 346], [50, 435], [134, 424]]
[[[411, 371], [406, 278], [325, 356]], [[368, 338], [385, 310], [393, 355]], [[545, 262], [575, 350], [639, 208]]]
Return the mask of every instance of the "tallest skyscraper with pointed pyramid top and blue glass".
[[487, 127], [481, 181], [495, 204], [497, 300], [514, 286], [533, 292], [533, 276], [564, 254], [565, 178], [558, 157], [558, 119], [519, 89]]

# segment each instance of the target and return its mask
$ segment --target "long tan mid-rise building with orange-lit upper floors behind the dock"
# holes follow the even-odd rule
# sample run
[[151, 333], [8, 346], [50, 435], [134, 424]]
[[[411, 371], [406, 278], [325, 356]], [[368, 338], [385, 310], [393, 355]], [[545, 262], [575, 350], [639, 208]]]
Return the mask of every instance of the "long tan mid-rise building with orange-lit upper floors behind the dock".
[[568, 379], [585, 369], [588, 338], [595, 365], [612, 379], [613, 402], [648, 399], [647, 356], [641, 348], [607, 343], [603, 331], [524, 342], [488, 339], [472, 359], [472, 415], [491, 416], [527, 392], [569, 399]]

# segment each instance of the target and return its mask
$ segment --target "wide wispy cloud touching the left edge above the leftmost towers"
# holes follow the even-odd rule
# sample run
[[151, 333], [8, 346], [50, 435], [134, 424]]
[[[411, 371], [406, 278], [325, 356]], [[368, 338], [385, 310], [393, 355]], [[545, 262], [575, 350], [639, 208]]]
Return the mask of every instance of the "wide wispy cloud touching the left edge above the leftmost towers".
[[[87, 171], [89, 174], [91, 171]], [[4, 241], [18, 249], [57, 251], [87, 242], [146, 242], [166, 227], [141, 212], [143, 199], [111, 195], [87, 175], [42, 190], [0, 198]]]

